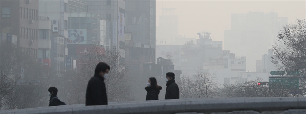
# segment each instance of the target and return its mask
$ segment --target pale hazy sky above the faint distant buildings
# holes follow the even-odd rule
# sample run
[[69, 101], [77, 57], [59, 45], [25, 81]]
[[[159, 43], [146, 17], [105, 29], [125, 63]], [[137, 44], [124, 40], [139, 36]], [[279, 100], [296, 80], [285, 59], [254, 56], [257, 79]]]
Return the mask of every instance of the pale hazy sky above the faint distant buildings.
[[197, 37], [202, 30], [211, 32], [213, 41], [224, 41], [224, 30], [231, 30], [231, 13], [277, 12], [289, 23], [306, 18], [306, 0], [156, 0], [156, 24], [161, 8], [177, 8], [178, 35]]

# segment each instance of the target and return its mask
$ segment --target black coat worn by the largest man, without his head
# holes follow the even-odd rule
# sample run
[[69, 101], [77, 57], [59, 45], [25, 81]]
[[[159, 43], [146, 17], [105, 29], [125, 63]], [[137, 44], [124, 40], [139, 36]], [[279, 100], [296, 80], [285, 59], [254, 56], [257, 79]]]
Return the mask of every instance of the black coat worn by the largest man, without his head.
[[107, 105], [104, 78], [98, 73], [95, 73], [87, 84], [86, 106], [89, 105]]

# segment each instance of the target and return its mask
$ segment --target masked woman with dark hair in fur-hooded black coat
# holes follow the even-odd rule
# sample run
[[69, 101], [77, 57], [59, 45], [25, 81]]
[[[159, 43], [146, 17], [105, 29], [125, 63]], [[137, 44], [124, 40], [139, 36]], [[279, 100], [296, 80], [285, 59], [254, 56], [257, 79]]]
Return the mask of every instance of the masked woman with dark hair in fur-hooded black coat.
[[147, 97], [146, 97], [146, 101], [148, 100], [158, 100], [158, 94], [159, 94], [159, 90], [162, 89], [161, 86], [157, 85], [157, 81], [156, 78], [151, 77], [149, 78], [148, 81], [148, 86], [144, 89], [147, 90]]

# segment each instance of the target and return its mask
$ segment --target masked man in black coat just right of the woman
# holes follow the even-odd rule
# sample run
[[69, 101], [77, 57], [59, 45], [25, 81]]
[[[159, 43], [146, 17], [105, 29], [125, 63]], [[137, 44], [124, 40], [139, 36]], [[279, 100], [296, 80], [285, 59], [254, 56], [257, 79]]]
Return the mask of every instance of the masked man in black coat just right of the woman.
[[180, 98], [180, 91], [178, 89], [177, 84], [174, 81], [174, 73], [168, 72], [166, 73], [166, 95], [165, 95], [165, 100], [166, 99], [179, 99]]

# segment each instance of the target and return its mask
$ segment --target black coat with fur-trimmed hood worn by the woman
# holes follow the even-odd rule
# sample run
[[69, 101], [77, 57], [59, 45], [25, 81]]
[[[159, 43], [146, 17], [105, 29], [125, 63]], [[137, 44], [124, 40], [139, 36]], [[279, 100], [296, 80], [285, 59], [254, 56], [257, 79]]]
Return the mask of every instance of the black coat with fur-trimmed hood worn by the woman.
[[156, 86], [148, 86], [146, 88], [147, 91], [147, 97], [146, 97], [146, 101], [148, 100], [158, 100], [158, 95], [159, 95], [159, 90], [162, 89], [162, 87], [157, 88]]

